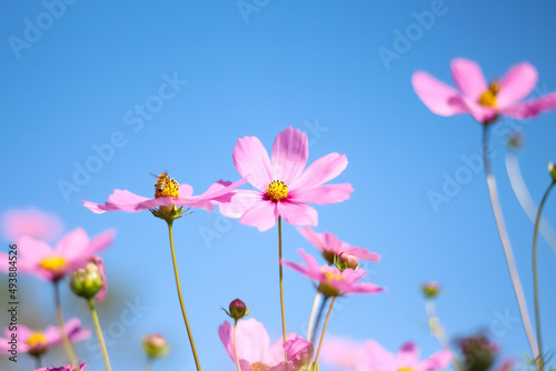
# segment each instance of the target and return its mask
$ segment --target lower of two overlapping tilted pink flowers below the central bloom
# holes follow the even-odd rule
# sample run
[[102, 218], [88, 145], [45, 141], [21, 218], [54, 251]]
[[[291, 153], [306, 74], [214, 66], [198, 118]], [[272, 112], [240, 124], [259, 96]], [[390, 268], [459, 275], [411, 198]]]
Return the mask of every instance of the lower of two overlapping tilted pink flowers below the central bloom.
[[319, 282], [318, 290], [327, 297], [338, 297], [345, 293], [376, 293], [384, 291], [370, 282], [358, 282], [366, 273], [364, 269], [347, 268], [340, 272], [336, 267], [319, 265], [315, 258], [305, 253], [302, 249], [298, 250], [307, 267], [282, 260], [282, 264], [289, 267], [309, 279]]

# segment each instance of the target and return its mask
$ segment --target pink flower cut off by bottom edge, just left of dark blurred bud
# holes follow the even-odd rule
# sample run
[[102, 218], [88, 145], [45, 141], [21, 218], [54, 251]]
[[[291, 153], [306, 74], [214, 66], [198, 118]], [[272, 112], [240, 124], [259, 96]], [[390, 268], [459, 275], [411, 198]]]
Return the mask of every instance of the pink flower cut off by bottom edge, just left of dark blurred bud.
[[365, 343], [365, 359], [356, 369], [358, 371], [434, 371], [446, 368], [451, 357], [450, 351], [441, 350], [419, 361], [419, 350], [410, 341], [403, 344], [397, 354], [393, 354], [370, 340]]

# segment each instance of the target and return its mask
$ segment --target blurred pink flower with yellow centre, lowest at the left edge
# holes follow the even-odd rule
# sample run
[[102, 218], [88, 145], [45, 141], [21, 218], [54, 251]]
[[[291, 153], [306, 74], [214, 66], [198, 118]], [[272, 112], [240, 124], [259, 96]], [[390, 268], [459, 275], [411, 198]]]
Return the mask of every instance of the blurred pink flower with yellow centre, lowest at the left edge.
[[[73, 318], [66, 322], [66, 332], [70, 341], [81, 341], [90, 338], [91, 331], [81, 329], [81, 321]], [[17, 351], [19, 353], [30, 353], [39, 355], [48, 349], [60, 345], [62, 335], [58, 327], [49, 325], [44, 331], [33, 331], [22, 324], [18, 325], [17, 331], [4, 330], [6, 338], [0, 338], [0, 353], [9, 354], [13, 349], [12, 339], [17, 339]], [[14, 335], [17, 338], [14, 338]]]

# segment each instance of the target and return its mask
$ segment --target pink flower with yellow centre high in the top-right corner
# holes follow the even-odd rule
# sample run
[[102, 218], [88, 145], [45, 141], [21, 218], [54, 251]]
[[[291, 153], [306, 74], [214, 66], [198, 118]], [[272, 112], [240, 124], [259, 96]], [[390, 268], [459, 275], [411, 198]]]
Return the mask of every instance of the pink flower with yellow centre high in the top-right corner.
[[527, 119], [556, 108], [556, 93], [520, 101], [537, 83], [537, 70], [529, 63], [513, 66], [499, 81], [487, 84], [477, 63], [459, 58], [451, 61], [451, 77], [459, 90], [424, 71], [411, 78], [417, 96], [436, 114], [471, 113], [475, 120], [489, 123], [499, 114]]

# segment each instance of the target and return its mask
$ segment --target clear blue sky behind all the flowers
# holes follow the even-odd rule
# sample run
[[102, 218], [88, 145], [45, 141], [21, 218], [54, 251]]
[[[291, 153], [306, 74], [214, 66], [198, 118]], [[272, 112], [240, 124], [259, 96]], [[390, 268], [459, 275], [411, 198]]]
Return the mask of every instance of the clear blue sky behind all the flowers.
[[[60, 214], [68, 230], [83, 227], [90, 234], [117, 229], [113, 247], [103, 254], [111, 294], [100, 304], [101, 321], [111, 331], [113, 369], [141, 368], [140, 338], [153, 331], [172, 345], [155, 370], [192, 370], [193, 361], [165, 223], [149, 212], [93, 214], [81, 200], [105, 201], [115, 188], [151, 195], [149, 173], [163, 170], [197, 192], [221, 178], [237, 180], [231, 159], [237, 139], [256, 136], [269, 149], [287, 126], [307, 132], [310, 161], [329, 152], [347, 153], [349, 160], [337, 182], [350, 182], [355, 192], [346, 202], [317, 207], [317, 231], [383, 255], [366, 268], [388, 291], [339, 301], [330, 334], [375, 339], [391, 351], [411, 339], [426, 355], [437, 351], [418, 291], [434, 279], [444, 288], [438, 313], [450, 335], [495, 325], [504, 330], [495, 335], [504, 355], [527, 351], [523, 328], [513, 320], [517, 302], [483, 173], [473, 172], [438, 212], [427, 197], [441, 192], [445, 173], [454, 177], [466, 167], [461, 156], [479, 153], [480, 127], [467, 116], [433, 114], [414, 93], [410, 77], [427, 70], [450, 82], [449, 62], [456, 57], [478, 61], [487, 79], [529, 61], [538, 69], [538, 87], [556, 90], [555, 3], [446, 0], [444, 14], [388, 66], [377, 50], [395, 51], [396, 30], [405, 33], [416, 22], [413, 12], [430, 10], [431, 1], [260, 0], [247, 21], [236, 1], [77, 1], [52, 24], [41, 16], [47, 8], [40, 1], [0, 3], [1, 210], [39, 207]], [[38, 18], [46, 30], [40, 37], [29, 31], [33, 41], [18, 58], [10, 37], [24, 40], [26, 20], [37, 24]], [[140, 126], [133, 109], [156, 104], [152, 97], [165, 74], [188, 83]], [[536, 200], [549, 183], [546, 166], [556, 159], [555, 120], [553, 112], [517, 123], [526, 143], [520, 163]], [[315, 131], [317, 124], [324, 129]], [[533, 311], [533, 224], [509, 186], [504, 166], [508, 130], [500, 131], [493, 136], [494, 170]], [[73, 183], [75, 164], [93, 161], [92, 147], [112, 136], [120, 136], [123, 147], [64, 198], [60, 180]], [[546, 217], [556, 223], [555, 202], [548, 201]], [[217, 233], [209, 243], [201, 238], [207, 230]], [[202, 365], [234, 370], [217, 334], [226, 319], [220, 305], [241, 298], [272, 341], [280, 334], [277, 231], [260, 233], [198, 211], [179, 220], [175, 233]], [[300, 260], [299, 248], [316, 251], [287, 224], [284, 243], [289, 260]], [[544, 240], [539, 261], [545, 348], [554, 351], [556, 255]], [[288, 329], [304, 333], [314, 289], [295, 272], [286, 271], [285, 279]], [[21, 284], [26, 307], [41, 313], [29, 320], [39, 327], [53, 322], [48, 284], [33, 278]], [[67, 288], [63, 299], [67, 317], [90, 324], [85, 305]], [[122, 324], [126, 300], [148, 310]], [[504, 329], [498, 317], [505, 313], [510, 319]], [[6, 324], [4, 314], [0, 321]], [[102, 369], [95, 341], [78, 351], [92, 370]], [[60, 363], [62, 357], [52, 353], [47, 360]], [[32, 367], [28, 358], [20, 362], [13, 370]]]

